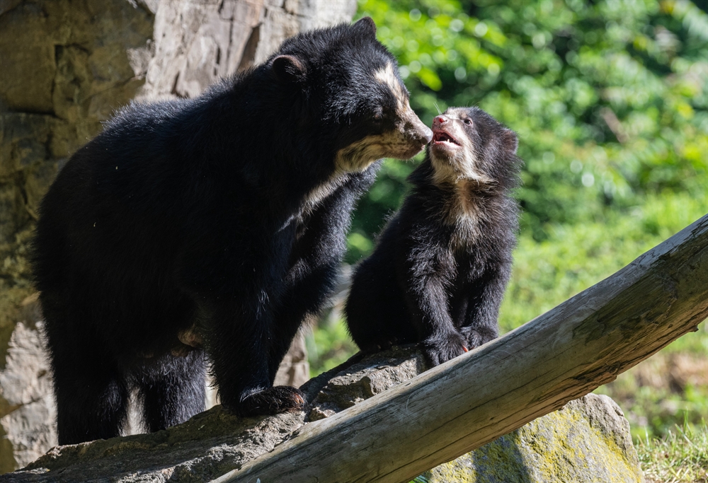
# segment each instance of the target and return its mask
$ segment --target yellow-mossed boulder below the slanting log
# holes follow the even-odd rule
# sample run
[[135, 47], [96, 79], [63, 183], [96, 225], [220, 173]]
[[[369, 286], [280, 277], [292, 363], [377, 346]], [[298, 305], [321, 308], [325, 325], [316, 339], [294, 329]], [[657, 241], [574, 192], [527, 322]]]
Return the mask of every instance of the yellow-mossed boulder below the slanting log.
[[610, 397], [589, 394], [433, 468], [428, 483], [641, 483], [629, 423]]

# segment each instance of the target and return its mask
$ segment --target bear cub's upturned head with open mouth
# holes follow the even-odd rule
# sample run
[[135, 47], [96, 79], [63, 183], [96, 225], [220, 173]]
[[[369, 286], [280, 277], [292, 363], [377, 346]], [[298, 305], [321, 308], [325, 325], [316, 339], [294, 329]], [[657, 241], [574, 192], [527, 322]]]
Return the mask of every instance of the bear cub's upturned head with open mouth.
[[517, 146], [516, 134], [479, 107], [450, 107], [433, 119], [433, 180], [513, 187], [520, 167]]

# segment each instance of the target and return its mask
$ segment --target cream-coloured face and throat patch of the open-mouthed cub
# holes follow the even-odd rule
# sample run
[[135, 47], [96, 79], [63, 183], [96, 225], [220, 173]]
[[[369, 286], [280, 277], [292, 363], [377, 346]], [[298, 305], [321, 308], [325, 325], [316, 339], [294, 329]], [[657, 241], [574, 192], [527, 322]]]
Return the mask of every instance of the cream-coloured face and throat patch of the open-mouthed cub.
[[471, 122], [462, 109], [448, 109], [433, 120], [430, 161], [435, 168], [433, 182], [436, 185], [457, 184], [463, 180], [481, 185], [493, 183], [493, 180], [477, 170], [479, 161], [472, 139], [465, 132], [466, 121]]

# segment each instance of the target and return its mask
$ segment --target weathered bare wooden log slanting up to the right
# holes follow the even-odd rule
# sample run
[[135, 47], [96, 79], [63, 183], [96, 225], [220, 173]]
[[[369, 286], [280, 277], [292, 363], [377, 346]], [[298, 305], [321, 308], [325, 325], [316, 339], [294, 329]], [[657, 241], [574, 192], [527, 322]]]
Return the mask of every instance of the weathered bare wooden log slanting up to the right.
[[609, 383], [707, 316], [704, 216], [544, 315], [212, 483], [408, 482]]

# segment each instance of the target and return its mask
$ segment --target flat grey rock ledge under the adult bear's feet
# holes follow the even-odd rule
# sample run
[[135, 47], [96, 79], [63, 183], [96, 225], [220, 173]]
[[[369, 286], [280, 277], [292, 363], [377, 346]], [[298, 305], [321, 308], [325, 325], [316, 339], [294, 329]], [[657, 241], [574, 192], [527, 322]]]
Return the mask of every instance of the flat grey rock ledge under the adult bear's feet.
[[217, 406], [167, 431], [57, 446], [0, 482], [208, 482], [272, 450], [303, 417], [239, 419]]

